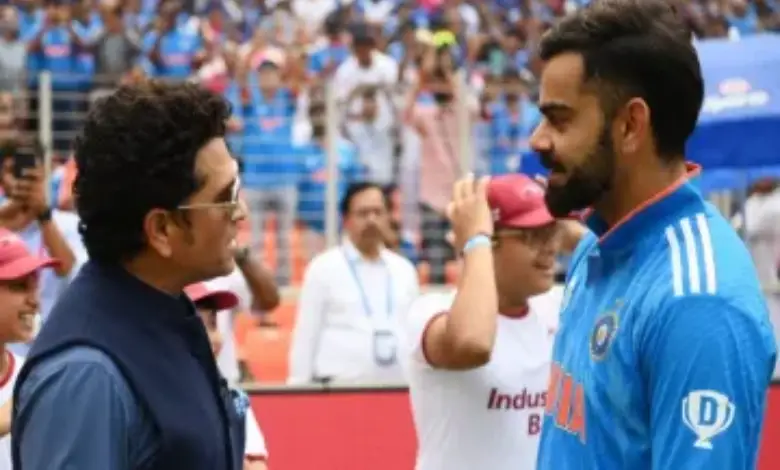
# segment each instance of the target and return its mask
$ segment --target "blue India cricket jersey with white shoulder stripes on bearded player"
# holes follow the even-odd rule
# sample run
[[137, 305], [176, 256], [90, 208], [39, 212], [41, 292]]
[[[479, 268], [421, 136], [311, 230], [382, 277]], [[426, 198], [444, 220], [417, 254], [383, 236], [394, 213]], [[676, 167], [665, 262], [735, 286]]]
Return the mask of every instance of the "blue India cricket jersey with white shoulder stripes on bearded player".
[[687, 179], [611, 230], [588, 225], [539, 470], [755, 468], [776, 348], [743, 242]]

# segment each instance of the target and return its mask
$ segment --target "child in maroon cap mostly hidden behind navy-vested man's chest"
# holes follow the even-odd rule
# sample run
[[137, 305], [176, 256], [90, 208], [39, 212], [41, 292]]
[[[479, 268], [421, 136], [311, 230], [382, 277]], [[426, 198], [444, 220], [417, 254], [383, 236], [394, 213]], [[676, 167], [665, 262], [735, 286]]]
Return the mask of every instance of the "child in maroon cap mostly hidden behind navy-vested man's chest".
[[[228, 290], [215, 290], [205, 282], [190, 284], [184, 289], [184, 293], [195, 304], [198, 315], [203, 320], [211, 343], [211, 350], [215, 356], [219, 355], [224, 338], [217, 328], [217, 312], [234, 309], [238, 305], [238, 297]], [[248, 406], [248, 398], [244, 392], [235, 388], [231, 389], [231, 393], [235, 395], [234, 403], [239, 403], [237, 407], [241, 408], [240, 412], [245, 413], [243, 470], [268, 470], [266, 466], [268, 450], [265, 446], [265, 437], [251, 406]]]

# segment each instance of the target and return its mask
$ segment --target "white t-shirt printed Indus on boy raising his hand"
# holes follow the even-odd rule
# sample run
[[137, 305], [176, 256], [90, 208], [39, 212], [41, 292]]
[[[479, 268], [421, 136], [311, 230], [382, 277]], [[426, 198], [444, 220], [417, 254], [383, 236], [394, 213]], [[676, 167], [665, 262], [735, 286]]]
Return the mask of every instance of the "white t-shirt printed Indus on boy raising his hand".
[[407, 320], [416, 470], [534, 470], [562, 289], [532, 298], [527, 315], [498, 317], [490, 362], [466, 371], [431, 367], [422, 338], [454, 293], [427, 294]]

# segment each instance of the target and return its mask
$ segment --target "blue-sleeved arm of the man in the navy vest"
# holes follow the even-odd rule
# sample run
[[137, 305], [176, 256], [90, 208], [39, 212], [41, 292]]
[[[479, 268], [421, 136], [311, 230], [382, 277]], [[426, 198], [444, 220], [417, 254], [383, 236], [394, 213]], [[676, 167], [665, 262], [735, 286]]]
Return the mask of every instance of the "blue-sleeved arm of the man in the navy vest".
[[35, 366], [16, 396], [15, 468], [130, 470], [135, 400], [103, 353], [74, 348]]

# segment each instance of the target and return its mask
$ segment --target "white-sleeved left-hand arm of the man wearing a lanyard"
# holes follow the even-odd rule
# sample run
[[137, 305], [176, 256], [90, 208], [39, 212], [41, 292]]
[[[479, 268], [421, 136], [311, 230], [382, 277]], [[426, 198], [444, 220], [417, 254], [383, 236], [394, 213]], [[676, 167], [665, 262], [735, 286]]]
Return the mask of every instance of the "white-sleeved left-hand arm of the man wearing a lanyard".
[[324, 281], [328, 272], [324, 258], [315, 258], [306, 269], [298, 299], [298, 314], [290, 341], [290, 384], [311, 383], [314, 361], [322, 332], [325, 306]]

